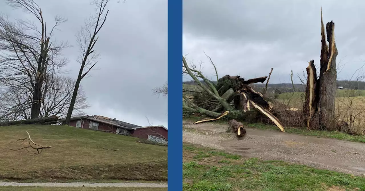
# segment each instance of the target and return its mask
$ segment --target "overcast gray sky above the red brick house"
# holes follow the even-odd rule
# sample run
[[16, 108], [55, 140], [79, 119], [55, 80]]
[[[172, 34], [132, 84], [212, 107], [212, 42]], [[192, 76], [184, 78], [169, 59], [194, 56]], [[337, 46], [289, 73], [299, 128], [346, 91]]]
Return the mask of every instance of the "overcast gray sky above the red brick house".
[[[68, 19], [55, 33], [58, 40], [75, 45], [64, 51], [70, 59], [70, 76], [77, 77], [80, 64], [74, 36], [84, 19], [94, 13], [92, 0], [35, 0], [51, 25], [55, 15]], [[103, 115], [141, 126], [167, 127], [167, 98], [153, 95], [152, 88], [167, 81], [167, 0], [128, 0], [108, 4], [110, 15], [100, 31], [95, 50], [98, 70], [81, 84], [92, 105], [89, 115]], [[121, 2], [123, 0], [120, 0]], [[0, 11], [11, 18], [29, 17], [0, 1]]]

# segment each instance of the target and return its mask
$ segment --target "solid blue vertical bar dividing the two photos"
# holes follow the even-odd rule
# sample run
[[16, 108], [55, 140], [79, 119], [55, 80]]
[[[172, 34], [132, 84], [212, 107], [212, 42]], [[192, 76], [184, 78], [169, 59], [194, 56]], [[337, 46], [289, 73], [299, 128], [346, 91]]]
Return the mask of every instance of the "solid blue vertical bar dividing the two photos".
[[183, 1], [168, 0], [168, 190], [183, 190]]

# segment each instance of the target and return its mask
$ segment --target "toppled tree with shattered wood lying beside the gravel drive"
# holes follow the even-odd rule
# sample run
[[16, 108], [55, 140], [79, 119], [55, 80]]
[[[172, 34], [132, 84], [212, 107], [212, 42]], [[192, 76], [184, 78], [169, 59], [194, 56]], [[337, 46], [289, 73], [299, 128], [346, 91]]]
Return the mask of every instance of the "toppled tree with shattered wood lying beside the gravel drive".
[[[213, 62], [211, 64], [214, 65]], [[183, 95], [183, 110], [190, 113], [199, 113], [213, 118], [218, 118], [222, 115], [222, 111], [228, 111], [226, 118], [228, 119], [244, 119], [250, 114], [251, 106], [254, 110], [268, 117], [276, 126], [284, 130], [284, 126], [280, 121], [270, 112], [273, 105], [264, 99], [260, 92], [254, 91], [250, 84], [264, 83], [267, 76], [245, 80], [240, 76], [225, 75], [218, 79], [217, 84], [208, 80], [203, 73], [195, 69], [195, 65], [189, 66], [183, 56], [183, 72], [191, 76], [191, 78], [199, 85], [200, 90], [186, 90], [194, 92], [193, 98]], [[217, 72], [216, 75], [218, 76]], [[202, 79], [202, 83], [199, 79]], [[233, 89], [232, 93], [228, 90]], [[222, 96], [228, 92], [229, 96], [224, 99]], [[231, 104], [233, 102], [233, 104]], [[254, 113], [257, 117], [257, 112]], [[210, 120], [205, 120], [210, 121]]]

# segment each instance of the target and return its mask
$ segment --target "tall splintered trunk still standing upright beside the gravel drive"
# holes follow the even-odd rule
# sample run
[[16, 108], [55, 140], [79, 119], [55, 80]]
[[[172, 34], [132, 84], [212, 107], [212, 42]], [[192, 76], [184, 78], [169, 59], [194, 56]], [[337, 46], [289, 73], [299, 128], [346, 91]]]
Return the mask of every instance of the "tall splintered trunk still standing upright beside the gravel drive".
[[338, 55], [334, 39], [335, 24], [333, 21], [328, 22], [325, 31], [322, 17], [321, 23], [322, 49], [319, 77], [317, 79], [314, 60], [311, 60], [307, 67], [306, 102], [303, 109], [307, 115], [308, 128], [334, 130], [336, 128], [336, 57]]

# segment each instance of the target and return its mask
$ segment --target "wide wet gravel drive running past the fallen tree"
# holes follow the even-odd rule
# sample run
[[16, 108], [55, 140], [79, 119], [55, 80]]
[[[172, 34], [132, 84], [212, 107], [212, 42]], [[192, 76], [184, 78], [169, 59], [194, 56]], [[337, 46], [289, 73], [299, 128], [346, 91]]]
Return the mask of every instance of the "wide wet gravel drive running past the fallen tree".
[[365, 175], [365, 144], [316, 138], [273, 130], [246, 128], [238, 139], [227, 133], [228, 125], [192, 124], [183, 120], [183, 142], [222, 149], [247, 157], [284, 160], [316, 168]]

